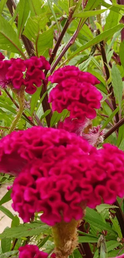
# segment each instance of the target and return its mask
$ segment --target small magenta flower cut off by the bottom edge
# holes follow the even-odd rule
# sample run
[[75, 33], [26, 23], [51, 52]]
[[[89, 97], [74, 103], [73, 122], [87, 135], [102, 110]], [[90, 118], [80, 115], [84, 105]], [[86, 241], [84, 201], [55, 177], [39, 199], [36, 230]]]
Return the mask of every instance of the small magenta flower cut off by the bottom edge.
[[[48, 253], [39, 251], [37, 245], [28, 245], [19, 247], [19, 258], [47, 258]], [[50, 257], [55, 258], [55, 254], [52, 254]]]

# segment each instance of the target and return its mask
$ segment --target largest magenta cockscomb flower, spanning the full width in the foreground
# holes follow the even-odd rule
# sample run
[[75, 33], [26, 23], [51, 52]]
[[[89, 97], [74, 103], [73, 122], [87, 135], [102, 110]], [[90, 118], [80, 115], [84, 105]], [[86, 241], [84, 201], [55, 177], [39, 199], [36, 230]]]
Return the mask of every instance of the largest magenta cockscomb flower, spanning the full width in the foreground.
[[[7, 160], [7, 162], [6, 162]], [[0, 141], [0, 170], [17, 173], [13, 208], [24, 222], [35, 212], [48, 225], [83, 216], [102, 199], [124, 195], [124, 153], [105, 144], [95, 147], [63, 129], [32, 127]]]

